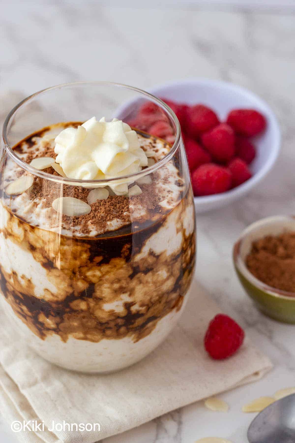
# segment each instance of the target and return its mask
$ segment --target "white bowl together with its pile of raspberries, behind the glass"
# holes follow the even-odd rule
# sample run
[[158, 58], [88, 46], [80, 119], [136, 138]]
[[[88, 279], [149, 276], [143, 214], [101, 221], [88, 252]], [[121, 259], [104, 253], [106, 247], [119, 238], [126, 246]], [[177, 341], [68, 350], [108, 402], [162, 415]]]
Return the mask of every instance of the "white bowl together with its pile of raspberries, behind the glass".
[[[164, 100], [180, 121], [193, 186], [194, 176], [199, 183], [201, 175], [195, 170], [203, 169], [204, 163], [226, 168], [232, 176], [230, 184], [225, 180], [223, 186], [212, 187], [218, 193], [195, 192], [197, 213], [240, 199], [271, 170], [280, 150], [280, 128], [272, 109], [256, 94], [231, 83], [198, 78], [156, 86], [150, 92]], [[193, 144], [198, 148], [192, 149]], [[212, 166], [213, 176], [215, 170]], [[203, 187], [206, 184], [204, 178]]]

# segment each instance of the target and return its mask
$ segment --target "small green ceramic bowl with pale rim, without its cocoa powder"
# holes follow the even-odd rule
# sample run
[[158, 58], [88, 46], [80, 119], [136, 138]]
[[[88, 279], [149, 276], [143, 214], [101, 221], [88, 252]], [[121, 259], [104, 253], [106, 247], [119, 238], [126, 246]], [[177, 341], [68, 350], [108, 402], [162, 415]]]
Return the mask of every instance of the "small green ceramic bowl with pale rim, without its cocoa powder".
[[295, 232], [295, 218], [276, 216], [253, 223], [241, 233], [234, 244], [233, 259], [238, 278], [258, 309], [272, 319], [295, 324], [295, 292], [281, 291], [268, 286], [254, 277], [245, 265], [253, 241], [284, 232]]

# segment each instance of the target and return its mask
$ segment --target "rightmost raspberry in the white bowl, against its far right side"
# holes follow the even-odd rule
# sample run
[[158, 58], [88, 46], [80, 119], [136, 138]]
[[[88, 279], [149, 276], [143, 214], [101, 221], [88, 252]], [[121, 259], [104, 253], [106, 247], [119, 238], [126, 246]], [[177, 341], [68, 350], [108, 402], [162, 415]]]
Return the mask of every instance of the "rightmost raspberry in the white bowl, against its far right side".
[[229, 124], [237, 134], [242, 136], [256, 136], [266, 127], [264, 116], [255, 109], [234, 109], [227, 116]]

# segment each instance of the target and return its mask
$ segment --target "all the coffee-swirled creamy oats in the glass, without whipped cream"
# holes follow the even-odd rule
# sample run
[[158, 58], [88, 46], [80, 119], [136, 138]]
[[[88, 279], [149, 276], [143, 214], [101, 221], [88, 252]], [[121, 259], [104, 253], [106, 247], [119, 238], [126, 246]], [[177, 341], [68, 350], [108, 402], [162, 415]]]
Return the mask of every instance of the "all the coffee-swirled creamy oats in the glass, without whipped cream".
[[[55, 158], [51, 131], [22, 142], [16, 152], [27, 162], [30, 146], [34, 155]], [[162, 140], [139, 137], [155, 159], [169, 149]], [[140, 195], [111, 195], [92, 204], [83, 219], [60, 217], [62, 233], [51, 207], [60, 196], [52, 182], [47, 188], [34, 179], [23, 194], [4, 195], [4, 306], [44, 358], [79, 371], [112, 371], [143, 358], [175, 326], [195, 263], [193, 196], [182, 185], [178, 161], [176, 154], [175, 163], [154, 173], [152, 183], [138, 183]], [[11, 169], [5, 176], [5, 186], [13, 174]], [[67, 188], [63, 195], [70, 193]], [[75, 190], [74, 195], [87, 201], [88, 193]]]

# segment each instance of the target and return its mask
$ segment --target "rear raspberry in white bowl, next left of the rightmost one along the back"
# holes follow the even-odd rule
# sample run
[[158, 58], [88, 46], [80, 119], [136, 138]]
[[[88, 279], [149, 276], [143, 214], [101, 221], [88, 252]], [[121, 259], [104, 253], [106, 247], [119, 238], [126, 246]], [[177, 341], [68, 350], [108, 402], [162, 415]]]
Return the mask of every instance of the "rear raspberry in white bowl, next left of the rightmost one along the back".
[[197, 138], [202, 132], [214, 128], [218, 117], [212, 109], [205, 105], [190, 106], [186, 112], [186, 130], [192, 138]]

